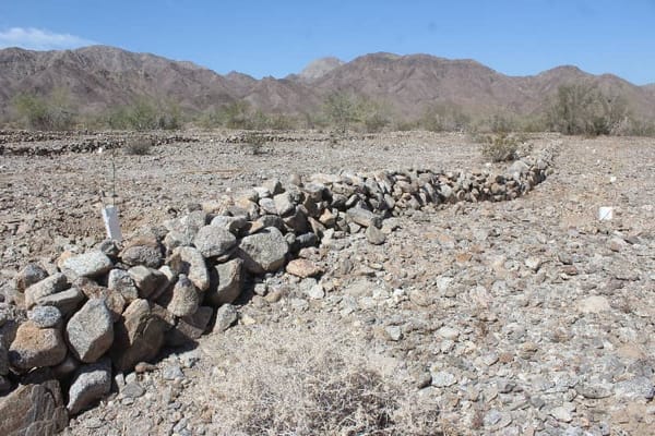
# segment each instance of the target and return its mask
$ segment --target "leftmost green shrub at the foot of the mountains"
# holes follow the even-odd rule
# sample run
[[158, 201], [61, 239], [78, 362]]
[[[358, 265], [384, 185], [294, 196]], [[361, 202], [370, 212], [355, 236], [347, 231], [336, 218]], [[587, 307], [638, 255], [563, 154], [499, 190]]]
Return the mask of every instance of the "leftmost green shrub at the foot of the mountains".
[[41, 131], [66, 131], [75, 124], [74, 107], [64, 88], [56, 88], [48, 96], [23, 93], [13, 97], [12, 107], [19, 121], [26, 128]]

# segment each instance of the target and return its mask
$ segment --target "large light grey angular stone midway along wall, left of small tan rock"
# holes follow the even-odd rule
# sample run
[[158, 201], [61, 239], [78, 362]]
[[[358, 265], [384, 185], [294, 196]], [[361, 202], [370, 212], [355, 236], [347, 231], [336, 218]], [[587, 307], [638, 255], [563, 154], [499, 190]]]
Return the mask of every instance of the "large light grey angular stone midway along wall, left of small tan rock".
[[246, 269], [253, 274], [264, 274], [279, 269], [288, 251], [289, 246], [282, 232], [267, 228], [243, 238], [239, 243], [238, 256], [243, 259]]

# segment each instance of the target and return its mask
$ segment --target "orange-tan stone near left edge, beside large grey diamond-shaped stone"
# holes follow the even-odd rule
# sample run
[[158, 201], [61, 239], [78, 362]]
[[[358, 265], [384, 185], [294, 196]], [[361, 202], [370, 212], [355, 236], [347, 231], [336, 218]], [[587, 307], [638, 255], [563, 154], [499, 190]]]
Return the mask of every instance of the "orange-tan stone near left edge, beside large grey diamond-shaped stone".
[[66, 359], [66, 342], [59, 328], [39, 328], [27, 320], [16, 330], [9, 348], [9, 362], [19, 371], [53, 366]]

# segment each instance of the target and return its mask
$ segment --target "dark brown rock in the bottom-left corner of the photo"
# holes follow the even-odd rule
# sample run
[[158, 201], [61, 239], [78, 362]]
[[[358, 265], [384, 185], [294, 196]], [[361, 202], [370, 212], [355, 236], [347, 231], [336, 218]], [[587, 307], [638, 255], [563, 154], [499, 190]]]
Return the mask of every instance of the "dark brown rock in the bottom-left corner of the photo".
[[0, 397], [0, 435], [55, 436], [68, 425], [59, 382], [20, 385]]

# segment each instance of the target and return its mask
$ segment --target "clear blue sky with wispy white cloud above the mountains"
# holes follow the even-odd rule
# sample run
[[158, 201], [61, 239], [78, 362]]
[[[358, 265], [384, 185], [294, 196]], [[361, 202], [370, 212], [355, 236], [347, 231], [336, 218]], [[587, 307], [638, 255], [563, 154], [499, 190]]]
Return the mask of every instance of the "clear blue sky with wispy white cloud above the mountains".
[[561, 64], [655, 82], [655, 0], [0, 0], [0, 47], [103, 44], [255, 77], [389, 51], [510, 75]]

